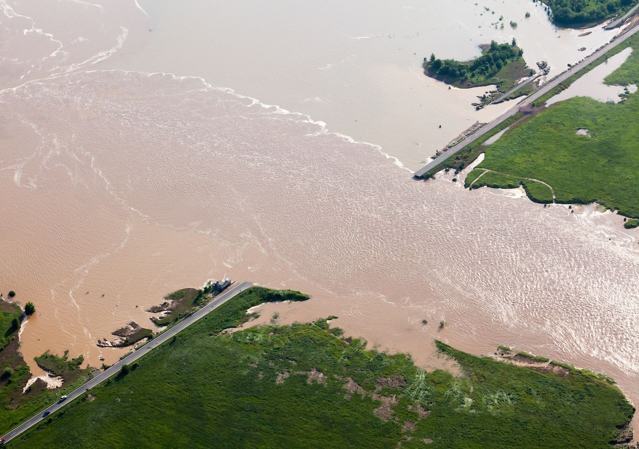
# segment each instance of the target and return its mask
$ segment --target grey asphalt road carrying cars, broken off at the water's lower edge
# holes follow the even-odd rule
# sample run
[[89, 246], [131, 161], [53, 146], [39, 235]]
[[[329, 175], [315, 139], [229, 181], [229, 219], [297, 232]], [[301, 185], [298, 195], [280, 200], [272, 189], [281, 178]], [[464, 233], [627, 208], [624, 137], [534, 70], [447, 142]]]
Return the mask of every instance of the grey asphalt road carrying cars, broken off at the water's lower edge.
[[4, 440], [8, 442], [11, 439], [19, 436], [22, 432], [25, 432], [26, 430], [31, 429], [31, 427], [33, 427], [40, 421], [49, 418], [49, 416], [51, 415], [47, 417], [42, 416], [43, 413], [45, 413], [45, 411], [49, 410], [50, 413], [55, 413], [62, 407], [66, 406], [66, 404], [69, 404], [70, 402], [72, 402], [72, 400], [80, 397], [84, 392], [91, 390], [91, 388], [102, 383], [103, 381], [113, 376], [114, 374], [118, 374], [119, 370], [121, 370], [123, 365], [130, 365], [130, 363], [133, 363], [135, 360], [139, 359], [144, 354], [148, 354], [151, 350], [155, 349], [156, 347], [160, 346], [160, 344], [166, 342], [166, 340], [173, 337], [173, 335], [176, 335], [176, 333], [180, 332], [181, 330], [183, 330], [190, 324], [195, 323], [201, 317], [205, 316], [212, 310], [215, 310], [215, 308], [220, 307], [220, 305], [226, 303], [226, 301], [233, 298], [233, 296], [236, 296], [237, 294], [245, 291], [246, 289], [248, 289], [249, 287], [252, 287], [253, 285], [254, 284], [252, 282], [241, 282], [240, 284], [231, 286], [231, 288], [227, 289], [227, 291], [225, 291], [224, 293], [216, 296], [213, 299], [213, 301], [205, 305], [203, 308], [197, 310], [197, 312], [195, 312], [191, 316], [186, 317], [185, 319], [180, 321], [180, 323], [164, 331], [163, 333], [158, 335], [158, 337], [155, 337], [155, 339], [151, 340], [150, 342], [142, 346], [140, 349], [133, 351], [132, 354], [129, 354], [127, 357], [118, 361], [118, 363], [115, 363], [114, 365], [109, 367], [109, 369], [93, 377], [93, 379], [91, 379], [90, 381], [82, 385], [81, 387], [77, 388], [76, 390], [73, 390], [73, 392], [71, 393], [68, 393], [66, 400], [64, 402], [56, 402], [54, 404], [51, 404], [49, 407], [40, 411], [40, 413], [38, 413], [37, 415], [31, 417], [29, 420], [25, 421], [24, 423], [20, 424], [15, 429], [8, 432], [6, 435], [4, 435]]

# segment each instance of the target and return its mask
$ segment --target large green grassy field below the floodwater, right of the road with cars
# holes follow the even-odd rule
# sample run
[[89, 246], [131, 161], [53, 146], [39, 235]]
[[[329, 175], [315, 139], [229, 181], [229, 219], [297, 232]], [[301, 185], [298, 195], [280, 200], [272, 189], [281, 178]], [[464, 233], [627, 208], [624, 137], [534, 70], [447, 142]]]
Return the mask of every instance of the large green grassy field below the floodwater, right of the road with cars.
[[536, 372], [439, 342], [465, 375], [424, 372], [322, 319], [220, 333], [249, 307], [305, 298], [245, 291], [12, 445], [607, 447], [633, 413], [588, 372]]

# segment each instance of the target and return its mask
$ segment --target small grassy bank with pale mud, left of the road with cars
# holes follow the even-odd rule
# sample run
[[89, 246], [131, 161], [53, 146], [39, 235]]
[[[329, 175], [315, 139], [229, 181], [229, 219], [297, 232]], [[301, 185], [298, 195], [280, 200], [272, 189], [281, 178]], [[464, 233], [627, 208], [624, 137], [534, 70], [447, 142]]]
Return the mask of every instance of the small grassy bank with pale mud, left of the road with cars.
[[[18, 305], [0, 300], [0, 435], [13, 429], [17, 424], [35, 415], [60, 395], [77, 388], [89, 376], [89, 370], [78, 367], [81, 358], [71, 361], [53, 354], [43, 354], [36, 362], [43, 369], [63, 376], [65, 382], [58, 390], [47, 390], [38, 380], [26, 393], [22, 390], [31, 377], [31, 372], [22, 354], [19, 353], [18, 330], [12, 322], [20, 320], [22, 310]], [[77, 363], [79, 361], [79, 363]]]

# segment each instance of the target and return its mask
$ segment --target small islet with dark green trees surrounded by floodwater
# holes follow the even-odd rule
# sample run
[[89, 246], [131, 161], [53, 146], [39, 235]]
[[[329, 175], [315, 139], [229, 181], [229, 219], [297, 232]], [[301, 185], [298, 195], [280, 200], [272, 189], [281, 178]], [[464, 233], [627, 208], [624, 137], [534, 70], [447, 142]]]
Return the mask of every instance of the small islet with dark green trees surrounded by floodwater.
[[[424, 73], [458, 88], [495, 84], [498, 91], [504, 93], [532, 72], [521, 56], [523, 51], [516, 45], [493, 41], [481, 48], [482, 55], [471, 61], [442, 60], [433, 54], [430, 59], [424, 58]], [[489, 100], [491, 98], [486, 97], [482, 101], [485, 103]]]

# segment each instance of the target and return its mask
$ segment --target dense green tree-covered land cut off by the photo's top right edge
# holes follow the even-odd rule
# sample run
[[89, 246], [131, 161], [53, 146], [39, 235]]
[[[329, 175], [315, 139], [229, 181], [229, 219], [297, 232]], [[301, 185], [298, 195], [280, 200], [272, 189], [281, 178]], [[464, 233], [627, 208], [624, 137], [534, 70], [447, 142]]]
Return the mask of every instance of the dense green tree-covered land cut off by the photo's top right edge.
[[[533, 0], [535, 1], [535, 0]], [[551, 8], [550, 18], [566, 27], [585, 27], [623, 15], [635, 0], [540, 0]]]

